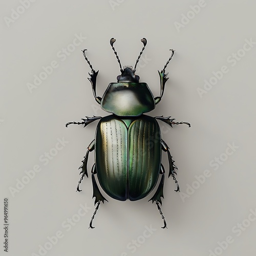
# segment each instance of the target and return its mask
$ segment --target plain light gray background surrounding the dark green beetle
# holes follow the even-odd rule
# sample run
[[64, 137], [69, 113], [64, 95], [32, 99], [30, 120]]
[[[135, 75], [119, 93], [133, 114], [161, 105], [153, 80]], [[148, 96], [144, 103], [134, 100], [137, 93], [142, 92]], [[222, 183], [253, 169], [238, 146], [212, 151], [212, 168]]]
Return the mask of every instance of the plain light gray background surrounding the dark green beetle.
[[[241, 49], [246, 39], [256, 41], [255, 2], [26, 3], [25, 9], [19, 1], [5, 1], [0, 8], [0, 208], [3, 209], [3, 200], [8, 197], [9, 255], [42, 255], [40, 245], [50, 248], [49, 256], [203, 256], [210, 255], [210, 250], [216, 255], [254, 255], [256, 223], [250, 212], [256, 207], [256, 47], [246, 46], [246, 52]], [[199, 4], [204, 6], [200, 11], [196, 7], [191, 11], [191, 6]], [[17, 10], [20, 14], [15, 16]], [[190, 18], [185, 20], [187, 15]], [[10, 21], [12, 16], [15, 19]], [[182, 24], [179, 29], [178, 23]], [[75, 34], [86, 39], [72, 48], [69, 45]], [[191, 123], [190, 128], [179, 125], [171, 130], [160, 123], [162, 137], [179, 168], [177, 179], [184, 193], [175, 193], [173, 180], [165, 180], [162, 210], [168, 229], [161, 229], [156, 205], [147, 202], [150, 196], [138, 202], [119, 202], [107, 197], [109, 203], [100, 205], [94, 219], [96, 228], [88, 229], [94, 211], [91, 179], [84, 179], [82, 192], [75, 193], [77, 168], [94, 138], [96, 122], [86, 129], [78, 125], [66, 128], [65, 123], [84, 116], [108, 115], [99, 110], [93, 98], [87, 80], [90, 68], [81, 50], [89, 49], [87, 55], [94, 69], [100, 71], [97, 94], [102, 96], [119, 75], [109, 45], [111, 37], [117, 39], [115, 48], [123, 66], [134, 66], [142, 48], [140, 39], [147, 38], [138, 75], [154, 96], [160, 92], [157, 70], [163, 68], [169, 49], [176, 50], [166, 69], [170, 79], [163, 99], [150, 113], [171, 115], [177, 121]], [[68, 55], [59, 52], [67, 47], [72, 50]], [[233, 53], [244, 56], [234, 60]], [[27, 84], [33, 83], [34, 75], [38, 76], [42, 67], [52, 61], [58, 67], [30, 92]], [[223, 66], [228, 72], [200, 97], [198, 88], [204, 89], [204, 80], [209, 81], [214, 76], [212, 72]], [[61, 150], [54, 150], [62, 138], [68, 143]], [[236, 148], [232, 151], [228, 143]], [[229, 156], [225, 153], [228, 147]], [[47, 152], [57, 155], [47, 162], [42, 160]], [[221, 163], [217, 162], [219, 157]], [[92, 164], [93, 154], [89, 168]], [[168, 170], [166, 154], [163, 164]], [[25, 171], [34, 165], [39, 165], [41, 171], [28, 180]], [[196, 176], [203, 175], [205, 170], [209, 170], [210, 177], [200, 184]], [[22, 179], [27, 184], [19, 192], [11, 193]], [[80, 204], [90, 207], [82, 217], [78, 215], [82, 212]], [[2, 223], [3, 210], [0, 217]], [[68, 227], [69, 218], [76, 222]], [[145, 226], [152, 227], [152, 233], [145, 232]], [[54, 245], [49, 244], [47, 237], [56, 233], [62, 237]], [[3, 234], [0, 237], [2, 241]], [[229, 244], [223, 242], [227, 237]]]

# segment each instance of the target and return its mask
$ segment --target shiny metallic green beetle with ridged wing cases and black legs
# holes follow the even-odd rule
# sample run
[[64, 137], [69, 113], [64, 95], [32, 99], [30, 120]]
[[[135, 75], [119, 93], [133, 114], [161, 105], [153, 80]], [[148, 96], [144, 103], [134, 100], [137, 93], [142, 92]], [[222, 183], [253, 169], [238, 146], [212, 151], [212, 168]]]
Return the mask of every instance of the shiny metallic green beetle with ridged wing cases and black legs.
[[117, 82], [112, 82], [104, 92], [102, 98], [96, 95], [96, 78], [99, 71], [95, 71], [86, 56], [86, 51], [82, 50], [83, 56], [91, 68], [90, 77], [88, 78], [92, 85], [92, 91], [95, 100], [100, 104], [101, 109], [110, 112], [111, 115], [105, 117], [88, 117], [82, 118], [82, 122], [69, 122], [70, 124], [83, 124], [86, 127], [89, 123], [99, 120], [95, 138], [87, 148], [86, 156], [82, 161], [81, 178], [79, 185], [84, 176], [88, 177], [87, 163], [89, 153], [94, 151], [95, 163], [92, 166], [92, 185], [93, 198], [97, 204], [93, 216], [90, 221], [90, 228], [93, 219], [99, 208], [100, 202], [106, 200], [99, 190], [95, 175], [97, 174], [98, 182], [103, 191], [113, 199], [125, 201], [137, 201], [148, 194], [156, 186], [159, 176], [160, 183], [156, 189], [154, 196], [148, 200], [152, 203], [156, 202], [159, 213], [163, 219], [166, 228], [166, 221], [163, 216], [160, 205], [162, 205], [161, 197], [163, 198], [164, 186], [164, 166], [161, 163], [162, 151], [167, 153], [169, 162], [169, 174], [177, 185], [175, 191], [179, 191], [179, 184], [175, 175], [177, 166], [174, 164], [173, 157], [170, 155], [169, 147], [161, 139], [160, 127], [157, 120], [161, 120], [171, 127], [174, 124], [187, 124], [188, 122], [175, 122], [174, 118], [169, 117], [151, 117], [144, 115], [155, 109], [163, 96], [165, 83], [168, 80], [165, 69], [169, 61], [174, 56], [174, 50], [170, 49], [172, 54], [167, 60], [163, 70], [158, 71], [160, 76], [161, 92], [159, 97], [153, 96], [151, 90], [144, 82], [139, 82], [140, 77], [135, 74], [136, 67], [142, 52], [147, 44], [146, 38], [142, 38], [143, 48], [136, 60], [135, 67], [124, 66], [122, 69], [120, 59], [114, 48], [114, 38], [110, 39], [110, 45], [116, 55], [120, 66], [121, 75], [117, 76]]

